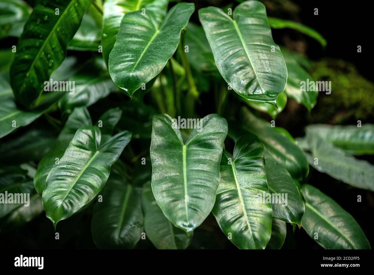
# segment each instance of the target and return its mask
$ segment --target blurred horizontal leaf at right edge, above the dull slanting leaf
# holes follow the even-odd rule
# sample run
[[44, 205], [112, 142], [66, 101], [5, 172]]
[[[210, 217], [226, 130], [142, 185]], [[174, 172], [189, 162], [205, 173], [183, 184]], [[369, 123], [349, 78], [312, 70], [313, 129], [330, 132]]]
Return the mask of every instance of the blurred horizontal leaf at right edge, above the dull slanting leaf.
[[350, 155], [373, 155], [374, 154], [374, 125], [331, 126], [331, 125], [309, 125], [310, 132], [318, 135], [344, 150]]

